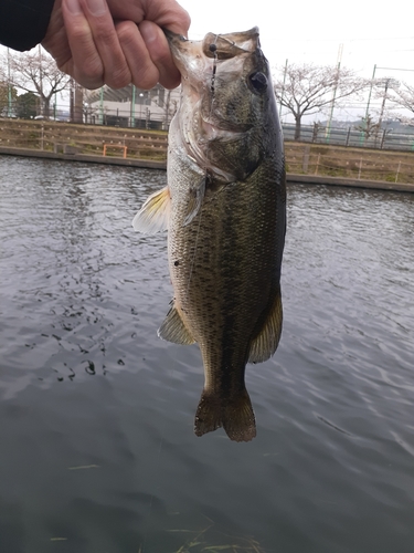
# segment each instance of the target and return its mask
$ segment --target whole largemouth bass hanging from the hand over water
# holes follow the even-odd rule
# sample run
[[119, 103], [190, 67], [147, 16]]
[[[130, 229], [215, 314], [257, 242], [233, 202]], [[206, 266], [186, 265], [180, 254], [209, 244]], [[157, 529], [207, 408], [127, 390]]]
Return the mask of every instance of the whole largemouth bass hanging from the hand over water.
[[164, 32], [181, 73], [168, 184], [132, 226], [168, 232], [173, 300], [158, 335], [200, 347], [195, 435], [223, 427], [231, 440], [250, 441], [246, 364], [275, 353], [283, 325], [286, 171], [269, 64], [257, 28], [201, 41]]

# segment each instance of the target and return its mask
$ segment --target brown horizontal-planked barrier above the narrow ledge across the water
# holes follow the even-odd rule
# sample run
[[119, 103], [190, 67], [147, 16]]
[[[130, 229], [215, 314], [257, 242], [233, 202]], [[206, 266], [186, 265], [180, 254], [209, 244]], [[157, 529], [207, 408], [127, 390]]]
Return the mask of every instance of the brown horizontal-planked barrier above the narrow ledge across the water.
[[[286, 136], [286, 135], [285, 135]], [[332, 135], [331, 135], [332, 136]], [[73, 125], [0, 118], [0, 146], [83, 153], [163, 161], [167, 133], [109, 125]], [[414, 182], [414, 153], [285, 140], [288, 173], [352, 179]]]

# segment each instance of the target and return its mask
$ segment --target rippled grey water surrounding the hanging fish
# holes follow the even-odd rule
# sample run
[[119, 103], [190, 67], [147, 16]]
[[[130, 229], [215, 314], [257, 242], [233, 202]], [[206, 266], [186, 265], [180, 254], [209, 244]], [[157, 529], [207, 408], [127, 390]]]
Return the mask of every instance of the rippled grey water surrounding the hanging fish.
[[1, 553], [413, 552], [413, 196], [289, 187], [282, 343], [234, 444], [193, 435], [198, 347], [156, 334], [166, 237], [131, 219], [166, 175], [0, 175]]

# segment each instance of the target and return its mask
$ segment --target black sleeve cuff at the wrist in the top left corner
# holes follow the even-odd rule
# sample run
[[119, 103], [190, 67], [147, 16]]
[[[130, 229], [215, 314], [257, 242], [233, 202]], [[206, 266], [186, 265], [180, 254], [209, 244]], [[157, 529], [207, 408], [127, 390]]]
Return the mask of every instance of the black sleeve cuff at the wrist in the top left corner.
[[54, 0], [0, 0], [0, 43], [30, 50], [46, 34]]

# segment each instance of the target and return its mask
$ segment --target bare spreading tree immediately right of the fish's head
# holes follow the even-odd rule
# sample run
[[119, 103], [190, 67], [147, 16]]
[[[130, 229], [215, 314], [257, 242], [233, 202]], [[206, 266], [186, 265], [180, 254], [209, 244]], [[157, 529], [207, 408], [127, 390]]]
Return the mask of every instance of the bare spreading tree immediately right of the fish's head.
[[295, 117], [295, 140], [300, 139], [304, 115], [320, 113], [333, 102], [357, 95], [368, 82], [348, 69], [312, 64], [290, 64], [282, 67], [282, 77], [275, 79], [278, 103]]

